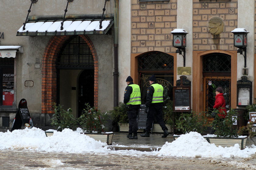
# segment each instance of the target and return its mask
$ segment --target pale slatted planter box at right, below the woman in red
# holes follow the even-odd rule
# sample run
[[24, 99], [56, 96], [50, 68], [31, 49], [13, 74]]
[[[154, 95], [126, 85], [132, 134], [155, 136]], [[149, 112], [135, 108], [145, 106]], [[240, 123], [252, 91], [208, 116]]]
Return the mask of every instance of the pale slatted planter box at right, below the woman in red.
[[238, 143], [240, 149], [245, 148], [247, 137], [245, 138], [217, 138], [217, 137], [208, 137], [209, 143], [214, 143], [216, 146], [230, 147]]

